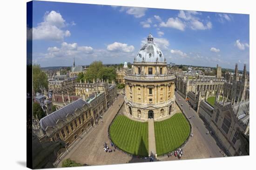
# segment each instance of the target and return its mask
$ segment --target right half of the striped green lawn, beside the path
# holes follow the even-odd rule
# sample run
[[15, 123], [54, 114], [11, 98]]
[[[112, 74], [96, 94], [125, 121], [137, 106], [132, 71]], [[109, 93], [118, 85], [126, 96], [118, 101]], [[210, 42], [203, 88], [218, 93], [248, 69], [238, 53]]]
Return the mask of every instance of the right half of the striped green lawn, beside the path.
[[182, 113], [176, 113], [168, 120], [155, 122], [154, 126], [157, 155], [175, 150], [189, 137], [189, 122]]

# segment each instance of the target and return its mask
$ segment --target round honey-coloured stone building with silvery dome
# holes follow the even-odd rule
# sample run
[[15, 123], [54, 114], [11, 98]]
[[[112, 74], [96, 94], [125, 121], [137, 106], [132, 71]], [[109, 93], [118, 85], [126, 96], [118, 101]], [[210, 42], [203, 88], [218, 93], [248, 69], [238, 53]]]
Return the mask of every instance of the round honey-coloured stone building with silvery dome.
[[162, 51], [148, 35], [148, 42], [134, 58], [133, 69], [126, 72], [125, 107], [129, 116], [148, 120], [168, 118], [175, 107], [175, 75], [168, 73]]

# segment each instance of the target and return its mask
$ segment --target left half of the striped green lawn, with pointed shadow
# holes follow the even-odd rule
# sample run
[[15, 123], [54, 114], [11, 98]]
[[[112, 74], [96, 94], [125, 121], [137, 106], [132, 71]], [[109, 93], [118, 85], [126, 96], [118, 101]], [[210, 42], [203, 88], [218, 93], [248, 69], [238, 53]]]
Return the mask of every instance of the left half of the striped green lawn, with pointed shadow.
[[109, 129], [113, 143], [133, 155], [148, 156], [148, 122], [117, 115]]

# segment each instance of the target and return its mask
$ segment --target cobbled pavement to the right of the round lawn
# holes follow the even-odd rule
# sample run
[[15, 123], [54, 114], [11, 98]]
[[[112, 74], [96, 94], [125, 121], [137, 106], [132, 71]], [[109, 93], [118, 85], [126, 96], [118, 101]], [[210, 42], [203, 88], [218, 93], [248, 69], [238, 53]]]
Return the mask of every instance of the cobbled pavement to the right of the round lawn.
[[[223, 157], [221, 154], [221, 149], [218, 147], [216, 140], [207, 134], [208, 129], [204, 125], [204, 122], [199, 118], [198, 114], [192, 108], [189, 109], [189, 104], [175, 92], [176, 102], [179, 106], [183, 105], [181, 108], [187, 117], [192, 116], [189, 119], [193, 137], [189, 137], [189, 141], [184, 145], [183, 152], [184, 155], [182, 159], [199, 159], [199, 158], [210, 158], [210, 157]], [[179, 101], [181, 99], [181, 101]], [[176, 106], [178, 107], [178, 106]], [[178, 160], [177, 157], [158, 157], [161, 161], [166, 160]]]

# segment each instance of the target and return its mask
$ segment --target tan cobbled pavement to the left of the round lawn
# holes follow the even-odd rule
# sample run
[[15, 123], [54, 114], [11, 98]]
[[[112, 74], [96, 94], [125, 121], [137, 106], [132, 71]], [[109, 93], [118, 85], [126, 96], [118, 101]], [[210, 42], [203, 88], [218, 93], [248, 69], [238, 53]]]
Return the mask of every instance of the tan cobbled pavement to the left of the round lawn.
[[[64, 159], [70, 158], [77, 163], [89, 165], [148, 162], [148, 160], [131, 157], [122, 151], [115, 150], [115, 152], [106, 153], [103, 150], [104, 142], [111, 147], [110, 140], [108, 139], [108, 126], [114, 119], [115, 114], [118, 112], [123, 101], [123, 96], [119, 96], [113, 106], [109, 107], [108, 111], [103, 115], [103, 122], [100, 121], [98, 126], [94, 126], [91, 131], [88, 132], [88, 134], [81, 139], [69, 153], [67, 153]], [[62, 161], [58, 164], [58, 167], [61, 167], [61, 164]]]

